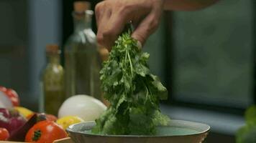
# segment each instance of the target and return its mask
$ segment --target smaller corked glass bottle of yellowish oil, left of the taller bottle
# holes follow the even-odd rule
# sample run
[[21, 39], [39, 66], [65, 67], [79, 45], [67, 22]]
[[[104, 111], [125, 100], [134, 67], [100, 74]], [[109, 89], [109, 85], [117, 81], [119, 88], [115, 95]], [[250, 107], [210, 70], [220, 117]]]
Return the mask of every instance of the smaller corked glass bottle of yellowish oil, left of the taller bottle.
[[58, 45], [47, 45], [47, 66], [42, 74], [42, 92], [44, 109], [47, 114], [58, 114], [58, 109], [65, 99], [65, 76], [60, 65], [60, 50]]

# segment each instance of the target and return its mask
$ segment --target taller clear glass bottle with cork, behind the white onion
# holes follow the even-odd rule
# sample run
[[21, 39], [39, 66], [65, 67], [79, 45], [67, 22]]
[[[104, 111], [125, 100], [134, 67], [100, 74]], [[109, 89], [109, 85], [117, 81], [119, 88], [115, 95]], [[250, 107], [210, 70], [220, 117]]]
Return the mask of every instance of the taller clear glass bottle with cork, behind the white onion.
[[76, 94], [87, 94], [101, 100], [99, 82], [101, 61], [96, 35], [91, 29], [92, 16], [93, 11], [76, 11], [75, 5], [73, 12], [75, 30], [65, 44], [66, 98]]

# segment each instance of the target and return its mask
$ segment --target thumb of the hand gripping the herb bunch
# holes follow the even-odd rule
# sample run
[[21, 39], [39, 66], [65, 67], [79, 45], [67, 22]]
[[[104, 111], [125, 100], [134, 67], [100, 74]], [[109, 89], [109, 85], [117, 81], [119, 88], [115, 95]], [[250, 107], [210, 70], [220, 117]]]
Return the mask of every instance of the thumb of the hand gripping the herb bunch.
[[135, 31], [132, 33], [132, 38], [137, 39], [142, 45], [145, 44], [145, 41], [150, 34], [157, 29], [159, 21], [160, 19], [151, 12], [137, 26]]

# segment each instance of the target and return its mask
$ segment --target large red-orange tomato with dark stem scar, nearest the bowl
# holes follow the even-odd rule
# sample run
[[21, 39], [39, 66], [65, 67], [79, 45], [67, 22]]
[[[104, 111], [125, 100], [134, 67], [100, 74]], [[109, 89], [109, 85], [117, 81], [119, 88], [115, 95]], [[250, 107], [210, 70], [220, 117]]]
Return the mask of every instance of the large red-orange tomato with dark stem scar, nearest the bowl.
[[37, 122], [26, 135], [26, 142], [52, 143], [56, 139], [68, 137], [62, 127], [52, 121]]

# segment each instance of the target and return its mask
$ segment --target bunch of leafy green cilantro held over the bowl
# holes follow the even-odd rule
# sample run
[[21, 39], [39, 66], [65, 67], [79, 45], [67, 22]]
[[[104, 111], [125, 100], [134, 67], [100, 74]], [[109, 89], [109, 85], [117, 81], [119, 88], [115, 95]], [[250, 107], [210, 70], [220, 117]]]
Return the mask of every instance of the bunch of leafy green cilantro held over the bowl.
[[170, 119], [161, 114], [160, 99], [167, 99], [167, 89], [150, 73], [147, 59], [131, 31], [115, 41], [101, 74], [101, 89], [111, 106], [96, 119], [95, 134], [156, 134], [156, 127]]

